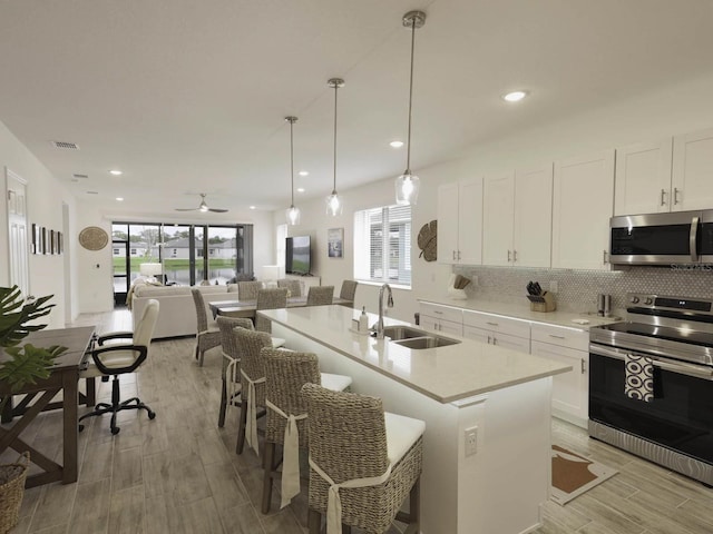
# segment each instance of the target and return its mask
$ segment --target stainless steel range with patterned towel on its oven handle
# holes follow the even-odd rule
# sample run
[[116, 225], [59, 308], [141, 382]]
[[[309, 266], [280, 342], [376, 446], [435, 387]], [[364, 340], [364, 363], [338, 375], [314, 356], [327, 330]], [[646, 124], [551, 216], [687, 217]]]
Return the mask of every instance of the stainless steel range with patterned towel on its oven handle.
[[589, 330], [589, 435], [713, 485], [713, 300], [626, 301]]

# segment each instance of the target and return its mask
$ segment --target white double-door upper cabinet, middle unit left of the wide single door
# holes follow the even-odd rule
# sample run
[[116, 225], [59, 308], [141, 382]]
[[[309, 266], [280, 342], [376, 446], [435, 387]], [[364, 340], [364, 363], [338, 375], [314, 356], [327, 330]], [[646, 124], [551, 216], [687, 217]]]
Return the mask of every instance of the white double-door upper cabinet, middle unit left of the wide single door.
[[484, 265], [549, 267], [553, 166], [485, 178]]

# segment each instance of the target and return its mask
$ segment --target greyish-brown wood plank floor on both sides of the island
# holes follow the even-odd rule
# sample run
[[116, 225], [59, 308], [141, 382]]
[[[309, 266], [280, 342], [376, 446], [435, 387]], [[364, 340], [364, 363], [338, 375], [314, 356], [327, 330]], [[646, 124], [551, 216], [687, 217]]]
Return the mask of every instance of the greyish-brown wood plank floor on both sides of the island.
[[[79, 325], [130, 329], [130, 316], [126, 310], [82, 315]], [[260, 462], [251, 451], [235, 454], [238, 411], [217, 427], [219, 352], [206, 353], [205, 366], [198, 367], [192, 350], [192, 339], [152, 345], [140, 372], [121, 377], [121, 396], [138, 394], [156, 418], [123, 412], [116, 436], [108, 416], [89, 418], [79, 435], [78, 483], [28, 490], [13, 534], [306, 533], [306, 490], [282, 511], [274, 491], [271, 514], [260, 513]], [[110, 384], [99, 384], [99, 397], [108, 399]], [[61, 414], [40, 415], [25, 436], [59, 458]], [[713, 533], [713, 490], [589, 439], [558, 419], [553, 419], [553, 436], [556, 444], [619, 473], [565, 506], [548, 502], [537, 534]], [[394, 525], [389, 534], [400, 531]]]

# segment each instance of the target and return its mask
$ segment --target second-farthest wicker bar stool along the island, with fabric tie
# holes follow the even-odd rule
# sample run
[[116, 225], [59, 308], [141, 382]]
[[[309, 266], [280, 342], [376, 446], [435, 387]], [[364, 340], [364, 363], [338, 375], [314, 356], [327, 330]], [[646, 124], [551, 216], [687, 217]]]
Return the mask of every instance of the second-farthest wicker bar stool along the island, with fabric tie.
[[260, 352], [263, 348], [272, 348], [272, 338], [265, 332], [253, 332], [240, 327], [234, 332], [243, 350], [241, 359], [243, 395], [235, 452], [243, 454], [243, 447], [247, 441], [247, 445], [260, 455], [257, 418], [265, 415], [265, 368]]

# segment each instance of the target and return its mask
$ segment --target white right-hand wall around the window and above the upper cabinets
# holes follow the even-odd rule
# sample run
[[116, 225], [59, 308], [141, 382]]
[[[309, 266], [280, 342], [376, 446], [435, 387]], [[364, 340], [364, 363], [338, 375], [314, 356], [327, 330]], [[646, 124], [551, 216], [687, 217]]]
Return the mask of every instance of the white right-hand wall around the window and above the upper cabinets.
[[[416, 244], [422, 225], [437, 218], [438, 186], [498, 170], [515, 169], [541, 161], [568, 158], [592, 150], [673, 136], [713, 127], [713, 76], [662, 88], [637, 99], [573, 116], [501, 139], [494, 139], [462, 151], [459, 158], [429, 168], [416, 169], [421, 179], [418, 206], [413, 209], [412, 290], [394, 291], [394, 309], [390, 315], [412, 320], [418, 309], [417, 298], [446, 293], [451, 267], [418, 258]], [[534, 97], [535, 98], [535, 97]], [[527, 106], [525, 101], [521, 106]], [[418, 115], [418, 109], [414, 110]], [[511, 111], [516, 112], [516, 111]], [[346, 126], [345, 126], [346, 127]], [[413, 134], [418, 138], [418, 129]], [[418, 161], [418, 146], [414, 145]], [[393, 178], [390, 177], [350, 190], [340, 190], [345, 207], [340, 218], [328, 217], [323, 200], [300, 202], [301, 225], [289, 227], [291, 236], [310, 234], [313, 241], [313, 273], [322, 285], [334, 285], [353, 277], [353, 212], [394, 202]], [[339, 185], [339, 177], [338, 177]], [[274, 212], [274, 224], [284, 221], [283, 211]], [[344, 258], [326, 257], [328, 228], [344, 227]], [[480, 231], [480, 229], [473, 229]], [[378, 287], [360, 284], [355, 306], [377, 312]]]

